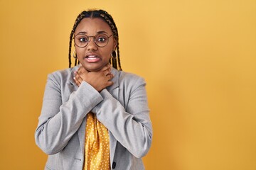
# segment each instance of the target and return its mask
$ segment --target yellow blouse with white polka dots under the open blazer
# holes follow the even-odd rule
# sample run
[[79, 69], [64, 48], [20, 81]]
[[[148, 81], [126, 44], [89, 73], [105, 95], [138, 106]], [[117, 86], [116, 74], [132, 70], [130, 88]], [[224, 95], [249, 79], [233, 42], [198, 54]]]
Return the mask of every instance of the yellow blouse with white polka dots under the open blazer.
[[110, 136], [94, 113], [87, 114], [84, 170], [110, 170]]

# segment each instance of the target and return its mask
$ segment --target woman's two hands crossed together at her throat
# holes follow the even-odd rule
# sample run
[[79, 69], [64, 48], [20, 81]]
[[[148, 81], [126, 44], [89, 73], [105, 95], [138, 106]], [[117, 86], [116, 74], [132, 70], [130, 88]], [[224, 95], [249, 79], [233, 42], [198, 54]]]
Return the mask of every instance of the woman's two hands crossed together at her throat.
[[107, 64], [100, 71], [97, 72], [88, 72], [84, 67], [79, 67], [78, 71], [75, 72], [75, 84], [80, 86], [82, 81], [86, 81], [97, 91], [102, 91], [107, 86], [111, 86], [114, 84], [110, 79], [112, 79], [114, 75], [111, 73], [111, 66]]

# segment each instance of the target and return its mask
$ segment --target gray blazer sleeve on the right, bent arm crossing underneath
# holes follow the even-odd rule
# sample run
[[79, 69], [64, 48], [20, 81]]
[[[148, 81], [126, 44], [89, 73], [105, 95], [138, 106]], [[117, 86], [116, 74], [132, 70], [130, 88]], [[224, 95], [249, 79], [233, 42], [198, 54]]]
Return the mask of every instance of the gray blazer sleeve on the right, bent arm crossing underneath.
[[[107, 127], [115, 139], [131, 152], [134, 157], [144, 157], [151, 147], [152, 125], [146, 97], [146, 83], [136, 77], [134, 84], [129, 82], [124, 97], [127, 106], [122, 106], [106, 89], [101, 91], [104, 100], [92, 112]], [[121, 93], [121, 92], [119, 92]]]

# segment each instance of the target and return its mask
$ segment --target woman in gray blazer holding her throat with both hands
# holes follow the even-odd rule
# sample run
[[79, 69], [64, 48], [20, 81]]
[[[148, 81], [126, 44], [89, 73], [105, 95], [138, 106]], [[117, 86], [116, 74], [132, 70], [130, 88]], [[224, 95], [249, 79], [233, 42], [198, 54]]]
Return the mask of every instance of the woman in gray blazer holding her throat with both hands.
[[78, 15], [69, 61], [73, 40], [75, 67], [48, 75], [36, 129], [45, 169], [144, 169], [152, 139], [146, 84], [122, 72], [112, 16]]

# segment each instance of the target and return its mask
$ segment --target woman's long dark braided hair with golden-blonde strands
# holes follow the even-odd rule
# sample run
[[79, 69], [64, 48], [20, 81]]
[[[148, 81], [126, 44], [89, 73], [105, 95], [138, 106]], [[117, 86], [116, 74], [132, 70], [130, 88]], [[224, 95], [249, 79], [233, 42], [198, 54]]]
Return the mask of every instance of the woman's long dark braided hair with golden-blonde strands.
[[[120, 57], [119, 57], [119, 41], [118, 41], [119, 38], [118, 38], [117, 26], [115, 25], [112, 16], [110, 16], [110, 14], [104, 10], [82, 11], [76, 18], [73, 29], [71, 30], [71, 33], [70, 33], [70, 42], [69, 42], [69, 51], [68, 51], [69, 67], [71, 67], [71, 64], [72, 64], [71, 63], [71, 47], [72, 47], [72, 41], [73, 41], [75, 29], [77, 28], [78, 24], [80, 23], [80, 21], [82, 21], [83, 18], [102, 18], [103, 21], [105, 21], [110, 26], [114, 35], [114, 39], [117, 41], [116, 50], [112, 52], [112, 57], [110, 58], [110, 64], [112, 64], [112, 67], [114, 67], [115, 69], [122, 70]], [[75, 57], [75, 66], [77, 64], [79, 64], [79, 61], [77, 57]]]

